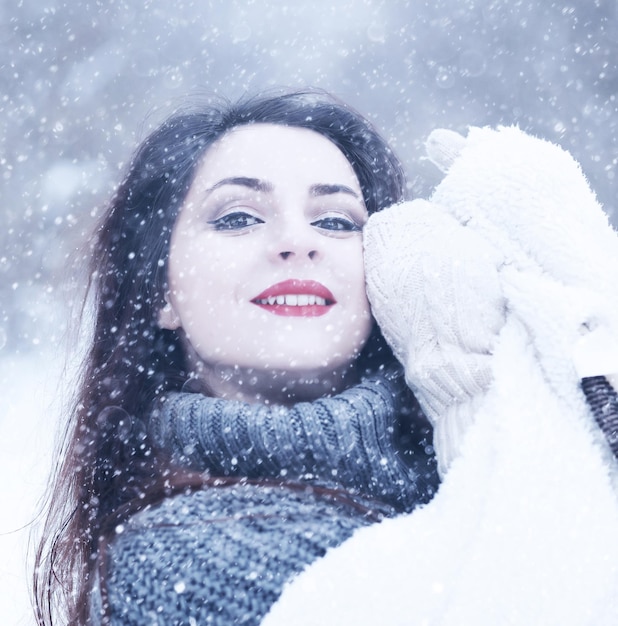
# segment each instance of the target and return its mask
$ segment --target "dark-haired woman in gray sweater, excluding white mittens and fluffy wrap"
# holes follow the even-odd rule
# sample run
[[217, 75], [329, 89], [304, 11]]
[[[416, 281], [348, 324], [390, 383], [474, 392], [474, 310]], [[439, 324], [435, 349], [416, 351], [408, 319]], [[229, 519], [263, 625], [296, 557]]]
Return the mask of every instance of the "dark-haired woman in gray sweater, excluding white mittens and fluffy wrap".
[[362, 226], [404, 190], [322, 93], [180, 113], [144, 141], [92, 248], [39, 623], [257, 624], [327, 548], [432, 495], [364, 287]]

